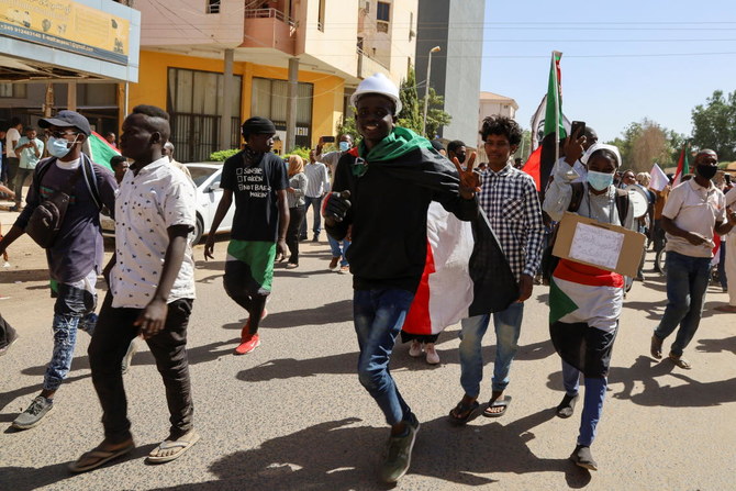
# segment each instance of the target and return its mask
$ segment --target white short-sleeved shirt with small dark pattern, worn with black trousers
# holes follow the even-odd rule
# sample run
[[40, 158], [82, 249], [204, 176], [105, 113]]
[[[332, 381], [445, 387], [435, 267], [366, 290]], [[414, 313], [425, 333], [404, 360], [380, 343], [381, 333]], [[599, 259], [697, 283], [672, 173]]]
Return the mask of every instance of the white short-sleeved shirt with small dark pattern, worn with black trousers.
[[[113, 308], [143, 309], [153, 300], [169, 245], [168, 228], [194, 227], [194, 188], [161, 157], [125, 172], [115, 200], [115, 266], [110, 274]], [[194, 260], [187, 241], [167, 303], [194, 298]]]

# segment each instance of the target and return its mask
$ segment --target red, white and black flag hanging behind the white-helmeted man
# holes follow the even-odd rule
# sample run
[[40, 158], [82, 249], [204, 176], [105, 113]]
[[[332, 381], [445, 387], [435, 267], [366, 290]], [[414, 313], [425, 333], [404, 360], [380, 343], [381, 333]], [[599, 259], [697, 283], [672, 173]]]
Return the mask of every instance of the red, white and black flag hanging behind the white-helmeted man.
[[460, 320], [500, 312], [518, 286], [486, 214], [462, 222], [433, 202], [427, 211], [427, 259], [403, 331], [437, 334]]

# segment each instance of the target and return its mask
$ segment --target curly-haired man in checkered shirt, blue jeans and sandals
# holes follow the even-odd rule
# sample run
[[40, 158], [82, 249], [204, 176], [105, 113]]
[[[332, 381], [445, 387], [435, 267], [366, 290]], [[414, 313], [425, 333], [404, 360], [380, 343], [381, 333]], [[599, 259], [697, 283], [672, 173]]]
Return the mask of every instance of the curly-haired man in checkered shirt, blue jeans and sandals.
[[[483, 415], [499, 417], [511, 402], [511, 397], [503, 397], [503, 392], [509, 386], [511, 362], [518, 349], [524, 301], [532, 295], [534, 276], [542, 263], [545, 226], [534, 179], [510, 161], [522, 141], [518, 124], [506, 116], [489, 116], [483, 120], [480, 134], [488, 157], [488, 170], [482, 175], [483, 186], [479, 193], [480, 205], [520, 284], [518, 300], [493, 314], [495, 361], [491, 399]], [[465, 423], [479, 406], [477, 399], [483, 375], [481, 341], [490, 317], [490, 314], [477, 315], [464, 319], [461, 323], [460, 384], [465, 395], [450, 412], [450, 420], [456, 423]]]

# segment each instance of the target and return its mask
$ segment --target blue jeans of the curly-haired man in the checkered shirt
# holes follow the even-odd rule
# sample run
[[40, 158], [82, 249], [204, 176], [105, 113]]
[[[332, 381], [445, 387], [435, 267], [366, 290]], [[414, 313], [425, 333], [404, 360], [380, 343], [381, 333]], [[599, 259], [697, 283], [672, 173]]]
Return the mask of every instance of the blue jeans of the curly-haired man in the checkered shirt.
[[[524, 317], [524, 304], [512, 303], [509, 309], [493, 314], [495, 327], [495, 362], [493, 364], [492, 389], [503, 392], [509, 386], [509, 371], [518, 350], [518, 335]], [[481, 341], [488, 330], [490, 314], [464, 319], [460, 331], [460, 384], [471, 398], [480, 394], [483, 379], [483, 356]]]

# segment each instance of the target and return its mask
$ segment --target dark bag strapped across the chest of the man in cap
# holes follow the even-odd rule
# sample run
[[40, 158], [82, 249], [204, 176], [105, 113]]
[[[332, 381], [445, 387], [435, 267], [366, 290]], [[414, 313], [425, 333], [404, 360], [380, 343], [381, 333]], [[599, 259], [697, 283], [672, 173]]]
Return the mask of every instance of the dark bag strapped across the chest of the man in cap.
[[[49, 158], [38, 163], [38, 167], [36, 168], [33, 178], [36, 196], [41, 197], [41, 181], [55, 161], [56, 158]], [[64, 223], [64, 215], [69, 207], [71, 191], [80, 177], [85, 178], [87, 189], [97, 204], [98, 210], [102, 208], [102, 200], [97, 188], [94, 166], [92, 165], [92, 161], [82, 154], [79, 171], [75, 172], [69, 178], [62, 190], [58, 190], [47, 199], [42, 200], [33, 210], [33, 213], [31, 213], [29, 222], [25, 225], [25, 233], [41, 247], [47, 249], [54, 245], [56, 236]]]

